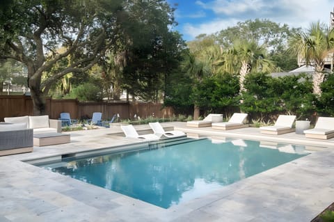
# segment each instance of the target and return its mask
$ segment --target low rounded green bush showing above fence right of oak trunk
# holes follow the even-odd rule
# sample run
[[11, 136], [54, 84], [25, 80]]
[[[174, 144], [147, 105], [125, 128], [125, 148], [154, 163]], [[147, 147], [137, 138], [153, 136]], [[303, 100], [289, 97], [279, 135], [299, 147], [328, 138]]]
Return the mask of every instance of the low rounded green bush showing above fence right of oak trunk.
[[77, 86], [73, 88], [72, 92], [64, 97], [65, 99], [75, 99], [77, 98], [79, 101], [102, 101], [103, 94], [101, 88], [91, 84], [86, 83], [81, 86]]

